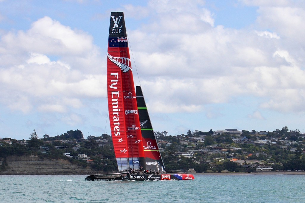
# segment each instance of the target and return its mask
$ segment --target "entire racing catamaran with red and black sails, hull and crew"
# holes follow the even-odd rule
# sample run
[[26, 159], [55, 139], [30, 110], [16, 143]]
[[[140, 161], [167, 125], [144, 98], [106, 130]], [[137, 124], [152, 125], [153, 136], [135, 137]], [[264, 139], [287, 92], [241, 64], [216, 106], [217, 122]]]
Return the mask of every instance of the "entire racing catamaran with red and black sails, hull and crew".
[[107, 53], [107, 96], [119, 173], [86, 180], [192, 180], [167, 173], [149, 119], [142, 89], [135, 88], [123, 12], [111, 12]]

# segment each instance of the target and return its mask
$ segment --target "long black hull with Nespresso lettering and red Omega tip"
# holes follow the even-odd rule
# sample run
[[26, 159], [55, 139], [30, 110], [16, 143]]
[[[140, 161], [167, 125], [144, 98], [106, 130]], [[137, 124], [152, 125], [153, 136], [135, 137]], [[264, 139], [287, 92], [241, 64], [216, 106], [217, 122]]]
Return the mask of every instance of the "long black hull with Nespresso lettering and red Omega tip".
[[127, 175], [123, 173], [110, 173], [110, 174], [96, 174], [87, 176], [86, 180], [92, 181], [113, 181], [113, 180], [138, 180], [138, 181], [148, 181], [148, 180], [194, 180], [192, 174], [132, 174]]

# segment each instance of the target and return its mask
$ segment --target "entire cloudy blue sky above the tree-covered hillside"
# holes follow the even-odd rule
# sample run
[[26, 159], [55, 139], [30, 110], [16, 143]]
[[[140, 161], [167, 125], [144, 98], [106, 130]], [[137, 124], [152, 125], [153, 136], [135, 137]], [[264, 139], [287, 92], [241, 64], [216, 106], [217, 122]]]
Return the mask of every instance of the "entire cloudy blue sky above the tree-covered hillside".
[[155, 131], [304, 132], [305, 1], [0, 0], [1, 138], [111, 134], [113, 11]]

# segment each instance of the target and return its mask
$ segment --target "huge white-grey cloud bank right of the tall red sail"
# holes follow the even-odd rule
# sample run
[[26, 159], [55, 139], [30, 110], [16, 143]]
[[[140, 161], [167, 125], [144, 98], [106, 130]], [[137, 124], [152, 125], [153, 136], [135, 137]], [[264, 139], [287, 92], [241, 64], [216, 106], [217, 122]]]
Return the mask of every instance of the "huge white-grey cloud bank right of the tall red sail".
[[[159, 15], [154, 16], [150, 26], [129, 35], [130, 41], [138, 42], [133, 47], [138, 50], [134, 53], [135, 60], [137, 67], [141, 67], [138, 71], [143, 89], [154, 97], [154, 102], [149, 101], [153, 110], [201, 111], [206, 104], [255, 95], [261, 108], [304, 111], [301, 47], [305, 45], [305, 26], [300, 19], [304, 19], [305, 12], [282, 2], [285, 5], [287, 8], [279, 10], [294, 22], [289, 24], [282, 16], [277, 18], [277, 29], [267, 31], [213, 27], [213, 14], [209, 12], [206, 13], [210, 20], [206, 22], [210, 24], [200, 24], [198, 19], [203, 15], [200, 4], [192, 5], [197, 7], [189, 14], [188, 2], [179, 1], [179, 8], [169, 6], [168, 1], [159, 5], [151, 3]], [[275, 22], [274, 12], [275, 16], [280, 15], [278, 8], [271, 6], [270, 2], [259, 10], [258, 22], [266, 27], [272, 27], [270, 23]], [[296, 33], [292, 34], [292, 30]], [[296, 102], [291, 99], [292, 92]]]

